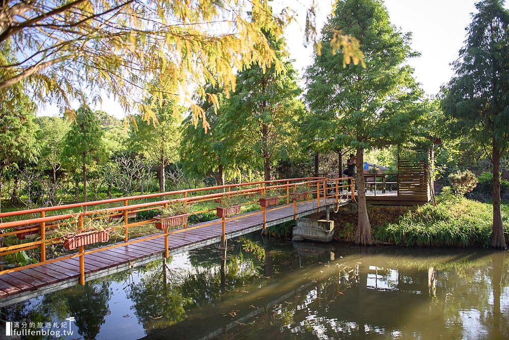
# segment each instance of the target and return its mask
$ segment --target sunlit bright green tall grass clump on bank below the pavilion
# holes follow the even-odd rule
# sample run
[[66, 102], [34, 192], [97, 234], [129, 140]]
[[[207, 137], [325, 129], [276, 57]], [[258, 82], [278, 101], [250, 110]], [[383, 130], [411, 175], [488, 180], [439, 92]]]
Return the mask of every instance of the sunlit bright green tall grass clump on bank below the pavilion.
[[[406, 246], [466, 247], [491, 244], [493, 207], [465, 199], [444, 188], [437, 206], [426, 204], [401, 216], [395, 223], [379, 226], [379, 241]], [[509, 233], [509, 206], [502, 205], [506, 239]]]

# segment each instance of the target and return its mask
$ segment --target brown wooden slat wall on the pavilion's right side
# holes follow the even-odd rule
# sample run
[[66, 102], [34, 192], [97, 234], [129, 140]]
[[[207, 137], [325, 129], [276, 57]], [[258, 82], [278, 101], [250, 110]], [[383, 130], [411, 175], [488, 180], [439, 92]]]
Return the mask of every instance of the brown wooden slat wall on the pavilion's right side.
[[398, 196], [429, 200], [427, 165], [424, 160], [398, 159]]

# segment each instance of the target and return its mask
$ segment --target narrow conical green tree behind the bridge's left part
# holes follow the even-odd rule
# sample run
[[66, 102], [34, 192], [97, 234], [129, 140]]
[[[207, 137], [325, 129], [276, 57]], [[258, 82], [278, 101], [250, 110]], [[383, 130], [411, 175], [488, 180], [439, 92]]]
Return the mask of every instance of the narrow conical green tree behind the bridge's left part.
[[103, 136], [94, 111], [87, 105], [78, 108], [76, 121], [66, 135], [62, 160], [75, 169], [81, 166], [83, 202], [87, 202], [87, 166], [92, 162], [102, 163], [106, 158]]

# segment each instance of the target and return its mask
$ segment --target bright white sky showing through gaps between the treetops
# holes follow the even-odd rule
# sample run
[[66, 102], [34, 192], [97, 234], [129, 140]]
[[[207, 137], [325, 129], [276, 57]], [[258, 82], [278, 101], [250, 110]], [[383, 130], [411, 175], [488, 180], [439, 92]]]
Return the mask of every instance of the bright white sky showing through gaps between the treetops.
[[[318, 4], [316, 22], [321, 30], [331, 12], [332, 0], [315, 0]], [[289, 6], [295, 11], [296, 22], [287, 27], [286, 38], [290, 58], [302, 77], [305, 68], [312, 63], [313, 47], [303, 46], [306, 9], [312, 0], [275, 0], [274, 11]], [[414, 68], [414, 76], [428, 94], [436, 94], [440, 86], [454, 75], [449, 65], [458, 59], [458, 51], [464, 45], [471, 22], [470, 13], [476, 12], [475, 0], [385, 0], [385, 6], [393, 25], [402, 32], [412, 33], [412, 48], [421, 56], [408, 61]], [[320, 31], [319, 31], [320, 32]], [[362, 49], [362, 46], [361, 46]], [[301, 82], [301, 84], [303, 84]], [[103, 96], [102, 109], [119, 119], [124, 118], [120, 105]], [[58, 115], [59, 109], [47, 105], [39, 109], [39, 115]]]

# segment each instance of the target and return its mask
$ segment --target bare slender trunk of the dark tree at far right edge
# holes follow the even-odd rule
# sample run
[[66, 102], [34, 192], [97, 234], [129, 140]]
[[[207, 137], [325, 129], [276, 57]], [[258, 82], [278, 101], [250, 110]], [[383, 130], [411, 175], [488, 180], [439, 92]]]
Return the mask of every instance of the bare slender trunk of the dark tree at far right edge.
[[502, 211], [500, 209], [500, 151], [493, 141], [493, 230], [491, 233], [491, 246], [494, 248], [507, 248], [502, 225]]

